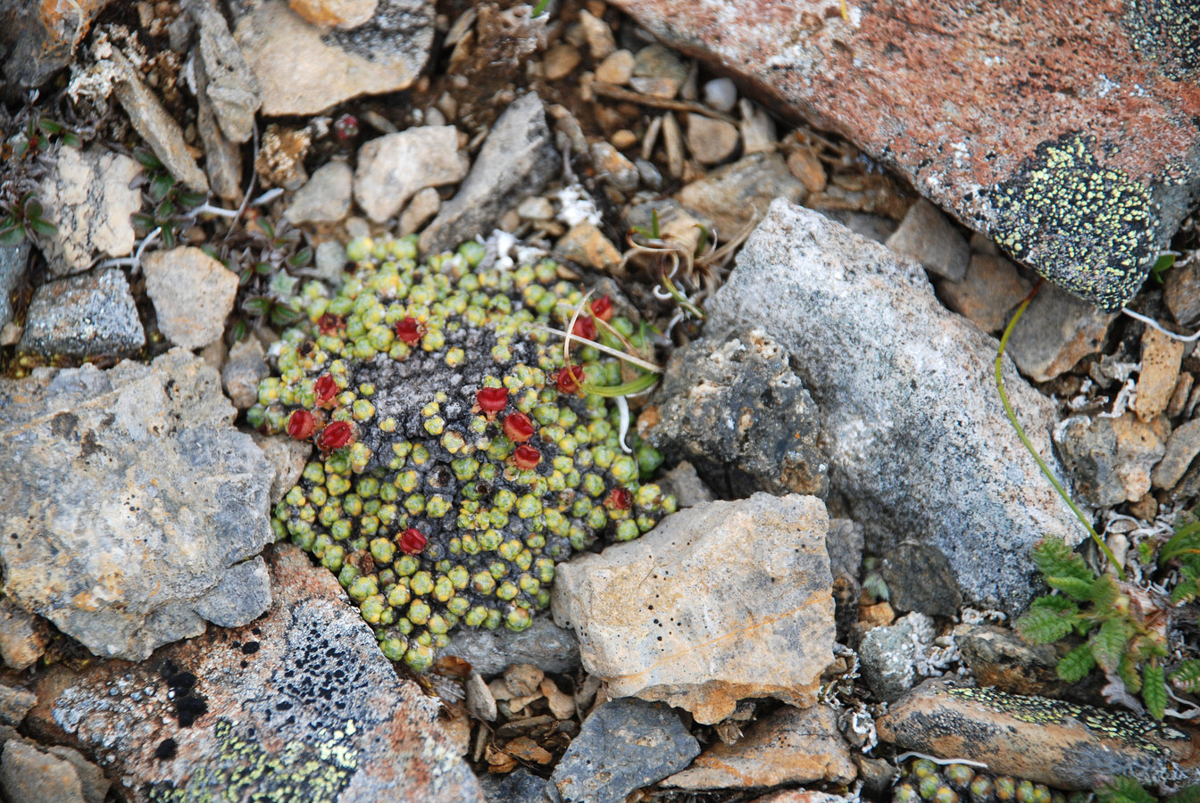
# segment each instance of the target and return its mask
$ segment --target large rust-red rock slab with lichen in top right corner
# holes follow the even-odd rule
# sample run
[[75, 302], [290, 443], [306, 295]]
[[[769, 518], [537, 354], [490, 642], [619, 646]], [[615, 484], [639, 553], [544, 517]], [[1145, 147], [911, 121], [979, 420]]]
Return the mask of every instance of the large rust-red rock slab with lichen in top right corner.
[[[1195, 8], [616, 0], [836, 131], [1056, 284], [1116, 309], [1200, 187]], [[1189, 32], [1190, 31], [1190, 32]]]

